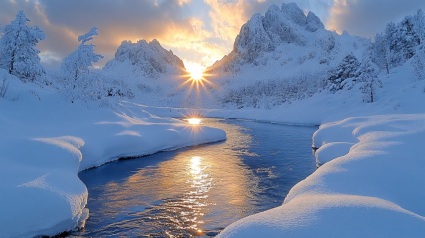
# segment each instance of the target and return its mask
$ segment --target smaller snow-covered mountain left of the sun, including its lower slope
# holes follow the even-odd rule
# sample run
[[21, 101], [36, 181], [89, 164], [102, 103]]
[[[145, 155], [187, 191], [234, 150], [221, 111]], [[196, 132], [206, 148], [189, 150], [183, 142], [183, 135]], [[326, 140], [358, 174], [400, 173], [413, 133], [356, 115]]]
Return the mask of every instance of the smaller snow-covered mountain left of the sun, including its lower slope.
[[130, 88], [134, 100], [152, 105], [181, 105], [181, 88], [187, 74], [183, 61], [153, 39], [124, 40], [115, 57], [97, 70], [109, 84]]

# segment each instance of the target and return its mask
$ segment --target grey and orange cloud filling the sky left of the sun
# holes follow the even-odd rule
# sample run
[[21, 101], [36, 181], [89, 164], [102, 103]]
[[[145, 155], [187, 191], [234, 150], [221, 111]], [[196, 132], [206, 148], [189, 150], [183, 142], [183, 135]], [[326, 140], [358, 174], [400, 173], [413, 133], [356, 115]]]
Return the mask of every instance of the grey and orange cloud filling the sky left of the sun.
[[[174, 32], [194, 34], [192, 20], [182, 14], [189, 0], [0, 0], [0, 20], [8, 22], [23, 9], [41, 26], [46, 40], [37, 48], [63, 58], [78, 44], [76, 37], [92, 26], [99, 29], [93, 43], [104, 54], [104, 64], [112, 58], [122, 40], [170, 39]], [[161, 42], [166, 43], [166, 42]], [[49, 57], [50, 59], [52, 57]], [[56, 62], [55, 66], [59, 66]]]

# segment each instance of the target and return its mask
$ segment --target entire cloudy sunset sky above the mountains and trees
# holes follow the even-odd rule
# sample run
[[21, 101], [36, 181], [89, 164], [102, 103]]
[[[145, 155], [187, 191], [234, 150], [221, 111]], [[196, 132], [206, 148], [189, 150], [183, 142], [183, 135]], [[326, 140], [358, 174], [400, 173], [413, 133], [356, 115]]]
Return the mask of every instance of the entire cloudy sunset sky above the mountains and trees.
[[[289, 0], [305, 12], [313, 11], [326, 29], [373, 36], [389, 21], [425, 9], [425, 0]], [[185, 64], [212, 65], [233, 48], [240, 27], [254, 13], [264, 14], [271, 4], [288, 0], [0, 0], [4, 26], [24, 10], [29, 25], [46, 34], [37, 48], [48, 69], [78, 45], [77, 37], [98, 28], [92, 40], [104, 56], [95, 67], [113, 58], [122, 40], [136, 42], [156, 38]]]

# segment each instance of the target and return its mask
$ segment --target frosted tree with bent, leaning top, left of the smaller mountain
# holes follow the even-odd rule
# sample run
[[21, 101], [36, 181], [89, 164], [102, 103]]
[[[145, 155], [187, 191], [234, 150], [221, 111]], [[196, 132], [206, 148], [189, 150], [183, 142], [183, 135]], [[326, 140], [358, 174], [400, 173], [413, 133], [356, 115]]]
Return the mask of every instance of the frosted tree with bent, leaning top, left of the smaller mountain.
[[66, 78], [65, 92], [69, 94], [70, 101], [77, 98], [89, 97], [90, 99], [100, 99], [103, 93], [103, 84], [94, 78], [89, 67], [92, 62], [97, 62], [103, 58], [102, 55], [94, 52], [94, 44], [85, 44], [97, 35], [97, 28], [93, 27], [85, 34], [78, 36], [81, 43], [75, 51], [62, 60], [61, 69]]

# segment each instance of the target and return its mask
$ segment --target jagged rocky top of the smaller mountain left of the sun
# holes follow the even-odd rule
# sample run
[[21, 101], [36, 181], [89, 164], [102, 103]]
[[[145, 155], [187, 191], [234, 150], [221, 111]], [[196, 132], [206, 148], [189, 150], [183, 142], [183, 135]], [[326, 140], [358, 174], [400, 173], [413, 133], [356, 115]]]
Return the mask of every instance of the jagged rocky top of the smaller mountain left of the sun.
[[112, 69], [122, 64], [130, 64], [134, 71], [140, 71], [150, 77], [156, 77], [159, 73], [181, 73], [184, 69], [183, 61], [171, 50], [164, 49], [156, 39], [149, 43], [144, 39], [136, 43], [122, 41], [115, 57], [106, 63], [104, 69]]

